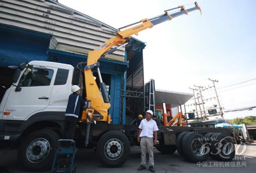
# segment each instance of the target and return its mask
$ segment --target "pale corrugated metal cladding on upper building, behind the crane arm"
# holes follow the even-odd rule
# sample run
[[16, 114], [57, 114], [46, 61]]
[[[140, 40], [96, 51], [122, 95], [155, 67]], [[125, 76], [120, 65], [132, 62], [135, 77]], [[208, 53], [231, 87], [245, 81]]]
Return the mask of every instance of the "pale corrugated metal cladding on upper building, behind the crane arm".
[[[110, 26], [55, 3], [45, 0], [0, 0], [0, 23], [53, 35], [49, 49], [83, 55], [115, 36]], [[124, 48], [107, 58], [124, 61]]]

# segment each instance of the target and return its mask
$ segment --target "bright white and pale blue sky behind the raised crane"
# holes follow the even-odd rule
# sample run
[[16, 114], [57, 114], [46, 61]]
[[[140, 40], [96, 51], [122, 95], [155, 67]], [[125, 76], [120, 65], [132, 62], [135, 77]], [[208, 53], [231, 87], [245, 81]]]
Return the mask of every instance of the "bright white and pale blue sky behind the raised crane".
[[[160, 15], [192, 0], [59, 0], [60, 3], [113, 27]], [[198, 0], [202, 15], [194, 11], [145, 30], [136, 36], [147, 42], [143, 50], [145, 82], [155, 79], [156, 88], [180, 92], [188, 87], [217, 88], [256, 78], [256, 18], [254, 0]], [[188, 6], [186, 8], [193, 7]], [[256, 80], [237, 85], [256, 83]], [[230, 88], [225, 88], [228, 90]], [[221, 91], [221, 90], [220, 90]], [[256, 105], [256, 84], [220, 92], [225, 109]], [[211, 92], [207, 91], [208, 95]], [[207, 95], [206, 94], [206, 95]], [[206, 97], [206, 96], [205, 96]], [[228, 113], [226, 118], [256, 116], [256, 109]]]

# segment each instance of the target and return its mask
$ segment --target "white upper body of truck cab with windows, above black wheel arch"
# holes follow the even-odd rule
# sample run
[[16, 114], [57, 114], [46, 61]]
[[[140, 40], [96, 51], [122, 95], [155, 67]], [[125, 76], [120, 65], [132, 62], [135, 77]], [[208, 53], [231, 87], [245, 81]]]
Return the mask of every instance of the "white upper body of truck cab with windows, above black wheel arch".
[[27, 120], [42, 111], [64, 112], [71, 94], [73, 71], [68, 64], [31, 61], [4, 94], [0, 105], [2, 119]]

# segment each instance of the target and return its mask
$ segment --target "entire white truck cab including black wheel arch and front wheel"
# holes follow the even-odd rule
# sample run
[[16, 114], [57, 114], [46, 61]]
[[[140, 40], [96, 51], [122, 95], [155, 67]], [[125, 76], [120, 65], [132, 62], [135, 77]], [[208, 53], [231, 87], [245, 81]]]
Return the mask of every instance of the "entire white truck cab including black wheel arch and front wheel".
[[0, 143], [15, 143], [23, 165], [42, 170], [51, 165], [68, 96], [79, 81], [79, 69], [31, 61], [17, 67], [13, 80], [0, 104]]

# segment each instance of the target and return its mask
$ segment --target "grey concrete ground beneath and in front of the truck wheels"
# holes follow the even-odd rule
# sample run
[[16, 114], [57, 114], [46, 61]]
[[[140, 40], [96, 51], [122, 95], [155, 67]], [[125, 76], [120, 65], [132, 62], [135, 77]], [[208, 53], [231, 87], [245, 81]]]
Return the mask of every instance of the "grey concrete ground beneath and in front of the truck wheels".
[[[157, 173], [255, 173], [256, 144], [246, 145], [244, 152], [240, 147], [237, 153], [232, 162], [217, 162], [209, 158], [207, 162], [190, 163], [180, 158], [177, 151], [174, 154], [162, 154], [154, 149], [155, 170]], [[9, 173], [26, 173], [16, 157], [16, 150], [0, 150], [1, 168], [4, 166]], [[150, 173], [148, 169], [137, 170], [140, 165], [139, 147], [131, 148], [130, 158], [120, 168], [103, 167], [92, 149], [79, 149], [76, 163], [76, 173]], [[49, 171], [45, 173], [49, 173]]]

